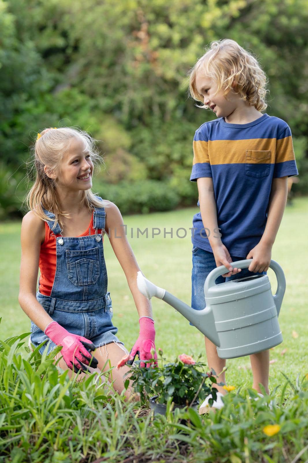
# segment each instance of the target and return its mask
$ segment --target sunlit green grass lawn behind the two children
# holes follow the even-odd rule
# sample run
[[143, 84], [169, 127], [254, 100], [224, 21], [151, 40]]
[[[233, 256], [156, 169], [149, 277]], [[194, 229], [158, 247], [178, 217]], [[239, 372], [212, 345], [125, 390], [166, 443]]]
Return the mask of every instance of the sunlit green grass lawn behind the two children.
[[[158, 286], [166, 288], [180, 299], [190, 304], [191, 296], [191, 249], [189, 227], [196, 208], [174, 212], [134, 215], [124, 217], [127, 236], [132, 245], [140, 268], [145, 276]], [[308, 261], [306, 236], [308, 229], [308, 198], [297, 198], [293, 206], [286, 208], [278, 237], [273, 246], [272, 258], [284, 269], [287, 289], [279, 316], [284, 343], [271, 350], [270, 390], [283, 384], [283, 371], [295, 380], [296, 375], [308, 372], [307, 351], [308, 323], [307, 296]], [[30, 320], [18, 304], [18, 278], [20, 263], [20, 225], [21, 222], [0, 224], [1, 236], [1, 309], [2, 322], [0, 338], [6, 339], [21, 332], [30, 331]], [[149, 237], [136, 238], [136, 230], [149, 229]], [[186, 238], [177, 238], [178, 228], [185, 228]], [[159, 236], [151, 237], [152, 228], [162, 230]], [[174, 236], [163, 237], [163, 229], [173, 228]], [[133, 229], [133, 238], [131, 238]], [[181, 231], [183, 233], [183, 231]], [[125, 275], [118, 263], [109, 240], [104, 240], [106, 263], [109, 275], [109, 291], [113, 300], [113, 322], [118, 327], [118, 337], [128, 350], [138, 337], [138, 313], [133, 297], [127, 286]], [[272, 290], [276, 291], [275, 275], [270, 269]], [[205, 360], [204, 337], [189, 325], [189, 322], [158, 299], [152, 300], [156, 320], [156, 346], [164, 351], [164, 356], [173, 360], [183, 352], [196, 357], [202, 353]], [[297, 336], [296, 336], [297, 334]], [[284, 355], [281, 352], [286, 350]], [[227, 363], [227, 382], [238, 387], [252, 384], [249, 358], [229, 360]]]

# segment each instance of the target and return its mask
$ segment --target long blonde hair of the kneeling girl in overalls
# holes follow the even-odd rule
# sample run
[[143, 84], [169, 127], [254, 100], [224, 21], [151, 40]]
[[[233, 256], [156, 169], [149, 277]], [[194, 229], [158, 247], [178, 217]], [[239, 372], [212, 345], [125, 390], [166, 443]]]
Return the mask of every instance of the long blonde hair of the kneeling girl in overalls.
[[[30, 161], [28, 179], [30, 180], [31, 174], [35, 179], [32, 188], [26, 195], [25, 202], [28, 208], [42, 220], [52, 220], [44, 213], [43, 208], [54, 213], [53, 229], [58, 222], [61, 224], [61, 217], [70, 217], [70, 214], [61, 211], [55, 188], [56, 181], [46, 175], [44, 166], [47, 165], [58, 176], [63, 155], [70, 149], [74, 138], [81, 138], [85, 142], [92, 162], [98, 167], [99, 163], [102, 162], [102, 158], [98, 154], [95, 145], [96, 140], [86, 131], [73, 127], [60, 127], [56, 130], [52, 130], [51, 127], [44, 129], [38, 134], [36, 142], [31, 149], [33, 156]], [[89, 212], [95, 206], [102, 207], [107, 205], [106, 201], [102, 203], [102, 201], [98, 200], [91, 189], [83, 191], [82, 194], [81, 203], [87, 207]]]

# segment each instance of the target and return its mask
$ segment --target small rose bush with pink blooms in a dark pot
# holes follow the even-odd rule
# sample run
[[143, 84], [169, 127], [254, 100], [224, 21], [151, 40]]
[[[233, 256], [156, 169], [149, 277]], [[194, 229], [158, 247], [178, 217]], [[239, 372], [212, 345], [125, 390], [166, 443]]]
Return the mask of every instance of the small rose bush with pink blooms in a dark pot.
[[[212, 394], [212, 400], [216, 400], [217, 389], [212, 386], [217, 383], [215, 373], [213, 370], [206, 372], [205, 363], [195, 362], [186, 354], [179, 355], [174, 362], [164, 363], [163, 351], [159, 349], [158, 353], [161, 358], [157, 367], [141, 368], [140, 362], [136, 361], [126, 374], [125, 387], [131, 382], [142, 404], [150, 406], [154, 413], [165, 414], [168, 401], [173, 401], [175, 408], [197, 408], [199, 400], [209, 394]], [[129, 358], [129, 355], [123, 357], [117, 368]]]

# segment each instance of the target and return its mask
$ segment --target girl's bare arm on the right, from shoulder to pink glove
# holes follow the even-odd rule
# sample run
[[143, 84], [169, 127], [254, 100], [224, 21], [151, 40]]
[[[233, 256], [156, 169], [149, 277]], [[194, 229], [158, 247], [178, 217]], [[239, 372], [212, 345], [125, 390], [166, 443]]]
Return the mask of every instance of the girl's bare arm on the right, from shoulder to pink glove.
[[110, 206], [106, 208], [105, 227], [109, 235], [110, 244], [125, 273], [139, 317], [147, 316], [152, 318], [151, 302], [145, 299], [137, 287], [137, 272], [140, 269], [133, 254], [133, 250], [127, 241], [125, 227], [123, 225], [124, 222], [121, 212], [115, 204], [110, 203]]

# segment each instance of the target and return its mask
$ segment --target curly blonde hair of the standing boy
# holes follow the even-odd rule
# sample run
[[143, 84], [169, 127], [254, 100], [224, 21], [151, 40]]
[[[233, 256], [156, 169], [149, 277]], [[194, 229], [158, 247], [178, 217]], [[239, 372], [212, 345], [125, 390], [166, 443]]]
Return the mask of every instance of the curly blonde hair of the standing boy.
[[[223, 90], [225, 98], [232, 89], [258, 111], [266, 110], [266, 93], [269, 92], [266, 90], [266, 74], [257, 59], [235, 40], [225, 38], [211, 42], [206, 47], [205, 54], [188, 72], [190, 96], [204, 103], [203, 96], [196, 88], [196, 75], [199, 70], [217, 83], [217, 93]], [[209, 106], [203, 104], [198, 107], [208, 109]]]

